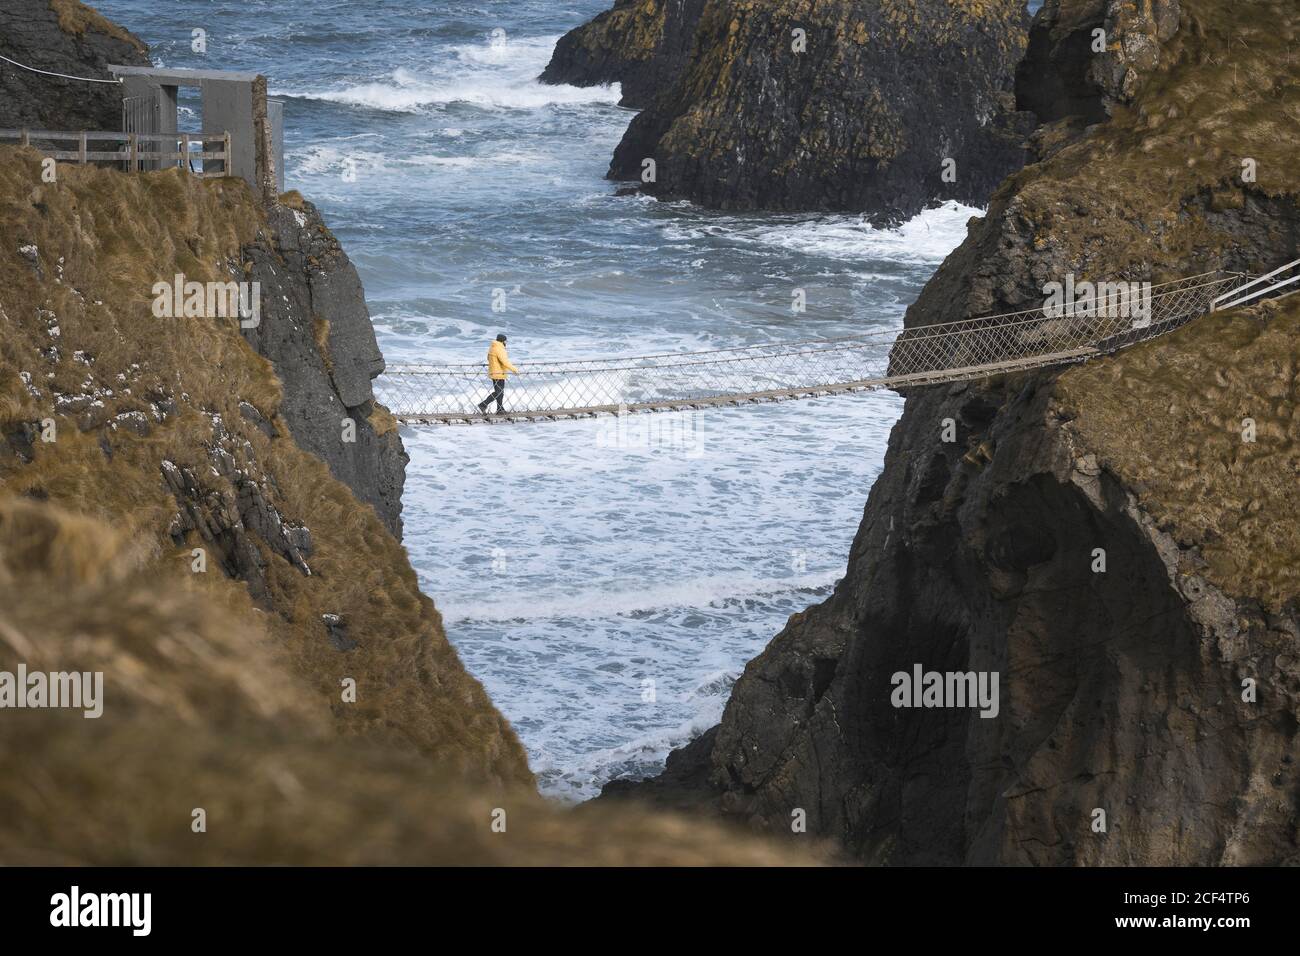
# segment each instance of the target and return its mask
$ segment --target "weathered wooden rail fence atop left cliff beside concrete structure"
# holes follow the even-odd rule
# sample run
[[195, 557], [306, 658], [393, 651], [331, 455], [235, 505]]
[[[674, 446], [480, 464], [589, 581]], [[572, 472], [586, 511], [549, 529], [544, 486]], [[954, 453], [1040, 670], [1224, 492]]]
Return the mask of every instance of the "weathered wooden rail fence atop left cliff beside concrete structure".
[[[229, 133], [90, 133], [58, 130], [4, 130], [0, 143], [17, 140], [65, 163], [122, 163], [127, 170], [183, 166], [199, 177], [229, 176]], [[103, 143], [113, 148], [99, 148]], [[72, 144], [73, 148], [61, 148]], [[95, 144], [98, 148], [91, 148]], [[209, 150], [218, 144], [218, 150]], [[198, 148], [192, 148], [198, 146]], [[195, 170], [194, 160], [203, 165]], [[220, 169], [214, 164], [220, 163]]]

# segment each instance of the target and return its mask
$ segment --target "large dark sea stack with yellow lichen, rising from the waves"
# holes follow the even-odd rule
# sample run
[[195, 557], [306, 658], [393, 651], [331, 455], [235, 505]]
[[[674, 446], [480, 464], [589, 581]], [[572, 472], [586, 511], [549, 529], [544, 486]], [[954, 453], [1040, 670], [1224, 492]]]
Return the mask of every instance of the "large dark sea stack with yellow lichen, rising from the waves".
[[1024, 161], [1010, 88], [1026, 26], [1019, 0], [707, 0], [685, 72], [632, 121], [610, 178], [883, 221], [983, 204]]

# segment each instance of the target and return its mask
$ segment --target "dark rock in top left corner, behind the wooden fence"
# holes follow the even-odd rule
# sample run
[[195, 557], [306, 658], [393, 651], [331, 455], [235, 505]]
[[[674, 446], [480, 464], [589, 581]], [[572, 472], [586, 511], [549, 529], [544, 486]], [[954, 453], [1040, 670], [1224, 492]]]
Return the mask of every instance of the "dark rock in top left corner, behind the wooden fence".
[[[0, 7], [0, 56], [72, 77], [109, 79], [108, 64], [147, 66], [133, 34], [77, 0], [6, 0]], [[118, 130], [116, 85], [62, 79], [0, 61], [0, 127]]]

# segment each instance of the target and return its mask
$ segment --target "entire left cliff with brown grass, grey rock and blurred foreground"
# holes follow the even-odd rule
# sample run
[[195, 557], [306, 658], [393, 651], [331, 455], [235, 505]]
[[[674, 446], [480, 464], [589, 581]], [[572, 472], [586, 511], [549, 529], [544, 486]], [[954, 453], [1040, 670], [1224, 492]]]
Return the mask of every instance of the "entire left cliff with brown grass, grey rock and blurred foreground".
[[[390, 533], [382, 359], [309, 203], [40, 160], [0, 147], [0, 864], [812, 860], [541, 800]], [[257, 313], [213, 311], [239, 282]], [[23, 669], [98, 706], [14, 709]]]

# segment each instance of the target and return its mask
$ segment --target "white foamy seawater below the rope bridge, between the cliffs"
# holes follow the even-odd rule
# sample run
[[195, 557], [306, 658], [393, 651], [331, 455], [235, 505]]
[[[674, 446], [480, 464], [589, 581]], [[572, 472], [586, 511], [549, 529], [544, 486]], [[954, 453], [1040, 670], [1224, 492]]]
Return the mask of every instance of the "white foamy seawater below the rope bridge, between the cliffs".
[[710, 412], [699, 458], [601, 447], [592, 421], [406, 433], [407, 549], [543, 792], [654, 773], [718, 721], [844, 574], [898, 403]]

